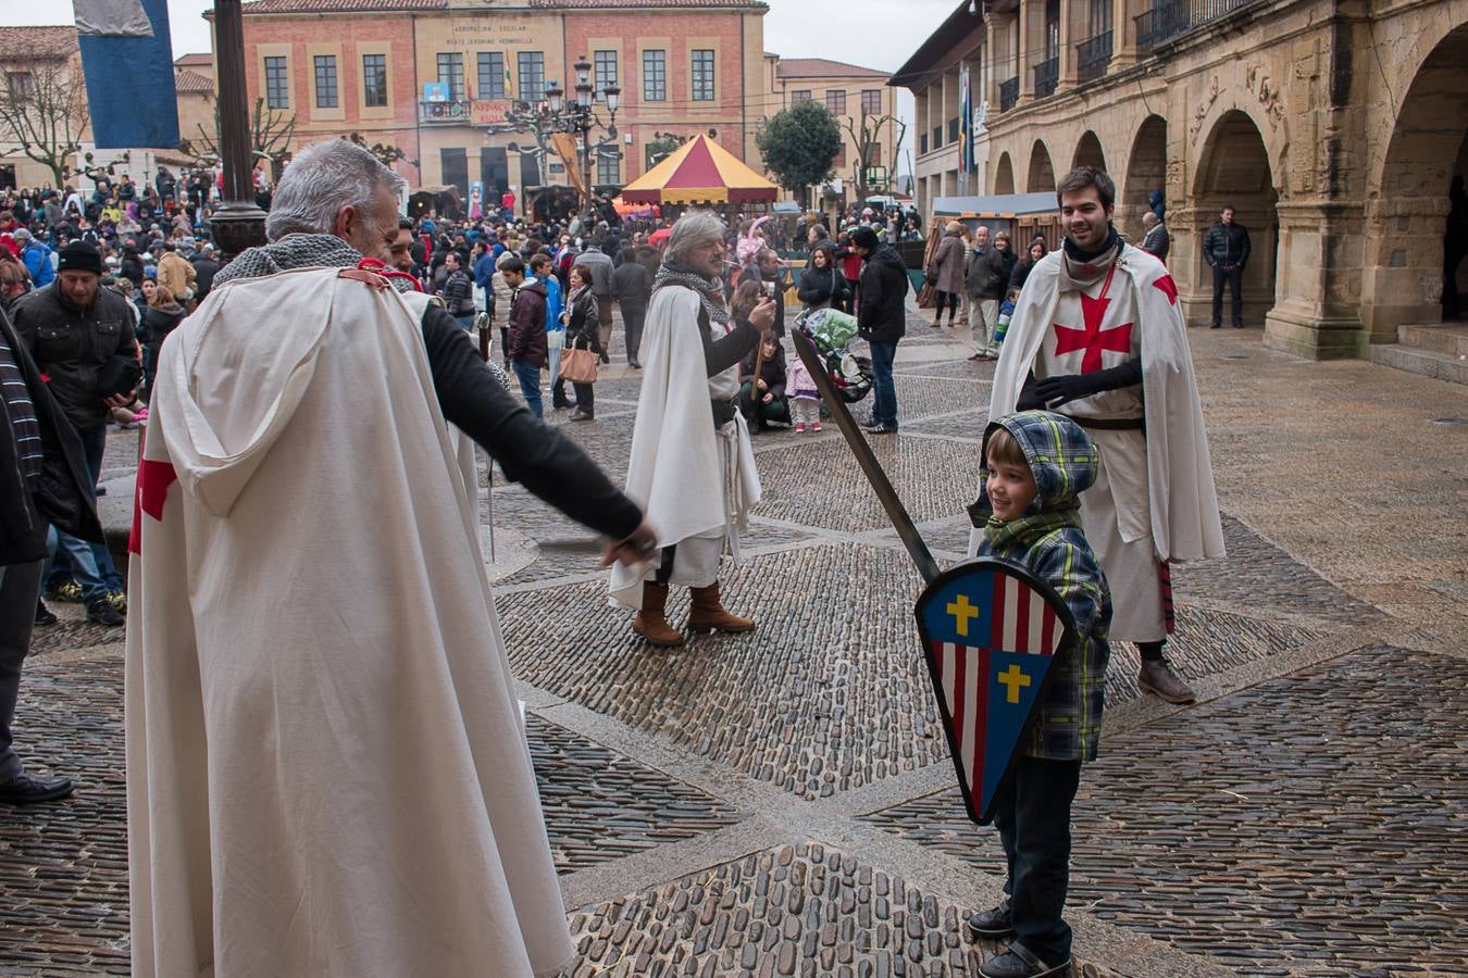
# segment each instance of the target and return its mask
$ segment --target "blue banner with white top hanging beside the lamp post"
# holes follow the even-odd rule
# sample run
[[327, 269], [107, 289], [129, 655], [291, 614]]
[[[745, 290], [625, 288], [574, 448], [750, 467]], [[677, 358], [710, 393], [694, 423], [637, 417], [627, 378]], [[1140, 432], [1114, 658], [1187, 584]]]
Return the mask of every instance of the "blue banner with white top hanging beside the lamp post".
[[[144, 15], [151, 35], [141, 29]], [[76, 41], [97, 148], [178, 148], [179, 110], [167, 0], [79, 3]]]

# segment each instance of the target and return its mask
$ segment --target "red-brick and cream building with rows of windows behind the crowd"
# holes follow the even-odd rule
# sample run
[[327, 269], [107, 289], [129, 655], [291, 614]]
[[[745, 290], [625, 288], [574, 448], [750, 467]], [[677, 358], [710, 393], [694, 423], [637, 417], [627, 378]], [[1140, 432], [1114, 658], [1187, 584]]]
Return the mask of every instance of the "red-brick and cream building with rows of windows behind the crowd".
[[584, 56], [603, 122], [603, 89], [621, 88], [621, 158], [600, 160], [593, 185], [621, 185], [666, 136], [711, 132], [757, 158], [765, 12], [756, 0], [257, 0], [244, 6], [247, 84], [251, 104], [294, 111], [298, 145], [358, 132], [402, 148], [411, 185], [483, 182], [493, 199], [567, 182], [559, 157], [520, 151], [528, 133], [487, 128], [550, 82], [573, 89]]

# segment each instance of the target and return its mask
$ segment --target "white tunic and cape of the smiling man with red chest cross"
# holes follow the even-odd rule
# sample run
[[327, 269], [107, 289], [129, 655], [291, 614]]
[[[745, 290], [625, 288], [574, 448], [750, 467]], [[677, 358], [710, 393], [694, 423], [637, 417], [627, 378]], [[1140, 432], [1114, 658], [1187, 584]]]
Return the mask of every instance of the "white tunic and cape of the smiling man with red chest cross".
[[[1025, 282], [994, 369], [989, 418], [1014, 411], [1031, 369], [1035, 377], [1082, 372], [1083, 349], [1058, 352], [1055, 326], [1085, 324], [1079, 293], [1061, 292], [1060, 262], [1060, 251], [1045, 255]], [[1097, 283], [1088, 295], [1097, 298], [1101, 290], [1102, 283]], [[1141, 356], [1142, 387], [1102, 391], [1058, 411], [1082, 419], [1145, 418], [1145, 435], [1088, 430], [1101, 450], [1101, 474], [1080, 494], [1080, 518], [1111, 587], [1111, 638], [1161, 641], [1166, 628], [1158, 562], [1221, 557], [1223, 526], [1186, 323], [1171, 276], [1155, 257], [1123, 248], [1107, 298], [1101, 328], [1132, 324], [1132, 331], [1126, 349], [1101, 350], [1100, 367]], [[970, 534], [970, 553], [981, 534]]]

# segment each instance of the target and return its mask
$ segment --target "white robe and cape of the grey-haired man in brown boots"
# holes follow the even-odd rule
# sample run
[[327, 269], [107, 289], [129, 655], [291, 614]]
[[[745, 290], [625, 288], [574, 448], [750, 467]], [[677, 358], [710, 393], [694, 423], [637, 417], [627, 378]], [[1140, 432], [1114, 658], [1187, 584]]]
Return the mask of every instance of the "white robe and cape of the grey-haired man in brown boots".
[[[715, 339], [724, 330], [711, 323]], [[711, 396], [738, 394], [738, 365], [708, 375], [699, 336], [699, 296], [691, 289], [658, 289], [643, 324], [643, 383], [627, 465], [627, 496], [647, 513], [658, 545], [677, 545], [672, 584], [709, 585], [719, 556], [738, 556], [738, 534], [759, 503], [759, 474], [749, 428], [737, 416], [713, 428]], [[615, 565], [611, 600], [642, 607], [642, 585], [656, 559], [637, 567]]]

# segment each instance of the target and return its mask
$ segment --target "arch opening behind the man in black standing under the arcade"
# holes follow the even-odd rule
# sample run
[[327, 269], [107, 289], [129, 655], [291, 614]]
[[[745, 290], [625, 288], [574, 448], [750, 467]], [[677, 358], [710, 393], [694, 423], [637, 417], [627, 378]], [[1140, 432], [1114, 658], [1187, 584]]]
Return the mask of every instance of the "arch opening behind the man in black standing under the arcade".
[[[1202, 239], [1207, 229], [1218, 220], [1218, 213], [1224, 207], [1233, 207], [1235, 220], [1248, 229], [1251, 245], [1249, 260], [1243, 267], [1243, 321], [1246, 326], [1261, 326], [1265, 314], [1274, 308], [1279, 192], [1264, 133], [1248, 113], [1224, 111], [1208, 132], [1208, 139], [1199, 152], [1193, 201], [1201, 217], [1198, 248], [1193, 255], [1195, 282], [1201, 287], [1189, 301], [1188, 318], [1191, 321], [1211, 318], [1208, 306], [1213, 299], [1214, 270], [1204, 261]], [[1226, 321], [1229, 302], [1232, 296], [1224, 298]]]

